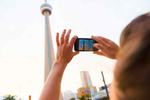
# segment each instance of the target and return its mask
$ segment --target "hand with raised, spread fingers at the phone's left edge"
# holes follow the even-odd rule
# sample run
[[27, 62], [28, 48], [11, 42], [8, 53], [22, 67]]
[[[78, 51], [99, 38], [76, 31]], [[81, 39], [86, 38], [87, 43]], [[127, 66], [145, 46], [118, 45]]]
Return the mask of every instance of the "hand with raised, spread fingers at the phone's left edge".
[[77, 36], [72, 37], [72, 39], [69, 42], [70, 33], [71, 29], [68, 30], [67, 34], [66, 30], [64, 29], [60, 41], [59, 41], [59, 33], [57, 33], [56, 35], [56, 43], [57, 43], [56, 61], [59, 61], [62, 64], [68, 64], [71, 61], [71, 59], [79, 53], [77, 51], [75, 52], [72, 51], [74, 42], [78, 37]]

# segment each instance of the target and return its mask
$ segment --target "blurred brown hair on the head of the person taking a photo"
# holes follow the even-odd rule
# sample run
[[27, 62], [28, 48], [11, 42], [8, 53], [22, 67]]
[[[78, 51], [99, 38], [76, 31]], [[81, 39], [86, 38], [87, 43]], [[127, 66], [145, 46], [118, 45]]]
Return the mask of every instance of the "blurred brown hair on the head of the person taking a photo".
[[120, 37], [118, 62], [114, 70], [119, 100], [150, 100], [150, 13], [134, 19]]

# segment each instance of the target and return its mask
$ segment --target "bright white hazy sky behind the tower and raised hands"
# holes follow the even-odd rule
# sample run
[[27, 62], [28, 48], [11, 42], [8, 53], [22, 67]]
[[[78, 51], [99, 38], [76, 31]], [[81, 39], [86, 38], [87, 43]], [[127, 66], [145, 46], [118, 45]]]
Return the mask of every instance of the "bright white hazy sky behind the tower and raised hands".
[[[149, 0], [47, 0], [54, 52], [56, 32], [72, 29], [71, 37], [103, 36], [119, 45], [121, 32], [137, 16], [150, 11]], [[0, 95], [31, 94], [37, 100], [44, 84], [44, 0], [0, 0]], [[113, 79], [115, 60], [80, 52], [68, 64], [62, 92], [81, 87], [80, 71], [89, 71], [94, 86]], [[31, 81], [31, 82], [29, 82]], [[11, 90], [11, 91], [10, 91]]]

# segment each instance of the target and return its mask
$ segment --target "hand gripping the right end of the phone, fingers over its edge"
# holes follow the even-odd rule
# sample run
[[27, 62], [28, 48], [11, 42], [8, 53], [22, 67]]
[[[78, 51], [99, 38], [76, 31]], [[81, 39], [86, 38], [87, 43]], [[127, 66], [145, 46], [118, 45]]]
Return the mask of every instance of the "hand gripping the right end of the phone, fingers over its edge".
[[98, 42], [95, 43], [94, 46], [100, 50], [94, 51], [94, 54], [116, 59], [117, 53], [119, 51], [119, 46], [116, 43], [101, 36], [92, 36], [92, 39]]

